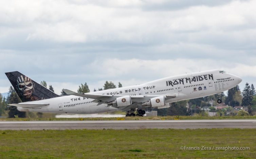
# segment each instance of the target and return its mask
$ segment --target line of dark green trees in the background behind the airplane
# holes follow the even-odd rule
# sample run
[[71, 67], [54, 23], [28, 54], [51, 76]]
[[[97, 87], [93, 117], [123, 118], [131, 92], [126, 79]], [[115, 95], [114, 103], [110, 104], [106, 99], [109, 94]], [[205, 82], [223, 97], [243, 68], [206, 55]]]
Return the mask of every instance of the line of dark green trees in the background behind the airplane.
[[[44, 87], [47, 86], [47, 82], [41, 81], [41, 85]], [[122, 84], [118, 82], [117, 87], [122, 87]], [[52, 85], [48, 87], [51, 91], [54, 92], [54, 88]], [[116, 88], [116, 85], [112, 81], [106, 81], [103, 85], [103, 88], [98, 88], [97, 90], [94, 88], [93, 91], [100, 91], [106, 89]], [[78, 93], [87, 93], [90, 92], [88, 84], [85, 82], [84, 84], [78, 86]], [[61, 95], [66, 95], [65, 92], [61, 91]], [[227, 91], [227, 96], [222, 92], [222, 101], [225, 105], [235, 107], [235, 106], [247, 106], [248, 112], [253, 115], [256, 112], [256, 91], [253, 84], [246, 83], [244, 89], [241, 91], [239, 86], [237, 85], [234, 88], [231, 88]], [[185, 100], [180, 102], [171, 103], [170, 108], [164, 109], [155, 109], [155, 108], [147, 108], [147, 110], [157, 110], [159, 115], [192, 115], [194, 113], [201, 113], [201, 108], [205, 106], [212, 106], [217, 104], [217, 95], [207, 96], [203, 98]], [[7, 107], [7, 104], [20, 103], [21, 100], [17, 95], [16, 91], [10, 86], [8, 91], [7, 98], [3, 97], [0, 94], [0, 116], [8, 115], [8, 117], [25, 117], [25, 112], [20, 112], [16, 107]], [[189, 104], [189, 108], [187, 109], [187, 104]], [[42, 113], [37, 113], [38, 116], [41, 116]]]

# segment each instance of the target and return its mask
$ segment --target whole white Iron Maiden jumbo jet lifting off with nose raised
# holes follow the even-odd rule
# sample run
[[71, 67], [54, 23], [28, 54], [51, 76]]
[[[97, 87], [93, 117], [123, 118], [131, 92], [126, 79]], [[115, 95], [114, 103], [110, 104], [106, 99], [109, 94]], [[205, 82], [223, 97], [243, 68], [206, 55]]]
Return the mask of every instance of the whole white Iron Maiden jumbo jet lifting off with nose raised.
[[217, 102], [221, 103], [222, 92], [242, 81], [225, 71], [209, 70], [88, 93], [63, 89], [68, 96], [60, 96], [18, 71], [5, 74], [22, 101], [9, 106], [19, 111], [73, 114], [125, 111], [126, 116], [143, 116], [145, 107], [168, 108], [172, 102], [215, 94], [219, 97]]

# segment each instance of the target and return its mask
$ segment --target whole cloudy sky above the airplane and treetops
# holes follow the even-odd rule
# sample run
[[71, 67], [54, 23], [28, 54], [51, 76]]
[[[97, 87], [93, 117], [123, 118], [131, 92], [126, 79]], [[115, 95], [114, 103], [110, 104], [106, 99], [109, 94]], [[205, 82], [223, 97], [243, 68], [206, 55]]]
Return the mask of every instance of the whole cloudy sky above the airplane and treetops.
[[210, 69], [256, 84], [255, 0], [0, 0], [0, 92], [19, 71], [60, 94]]

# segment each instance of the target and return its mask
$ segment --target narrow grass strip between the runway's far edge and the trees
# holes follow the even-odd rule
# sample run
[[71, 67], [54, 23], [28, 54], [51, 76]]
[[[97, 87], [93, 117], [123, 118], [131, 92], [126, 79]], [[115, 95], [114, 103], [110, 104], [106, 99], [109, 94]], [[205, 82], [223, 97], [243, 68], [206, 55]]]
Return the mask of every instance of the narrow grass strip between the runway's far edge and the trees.
[[0, 121], [84, 121], [84, 120], [207, 120], [207, 119], [256, 119], [256, 116], [134, 116], [87, 118], [0, 118]]

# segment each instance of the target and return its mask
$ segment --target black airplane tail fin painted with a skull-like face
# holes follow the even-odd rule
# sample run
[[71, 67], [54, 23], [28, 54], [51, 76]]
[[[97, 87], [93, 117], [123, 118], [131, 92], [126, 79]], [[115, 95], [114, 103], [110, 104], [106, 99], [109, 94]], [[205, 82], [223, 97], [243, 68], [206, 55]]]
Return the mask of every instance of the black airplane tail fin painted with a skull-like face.
[[38, 101], [59, 97], [53, 91], [36, 83], [18, 71], [5, 73], [22, 102]]

